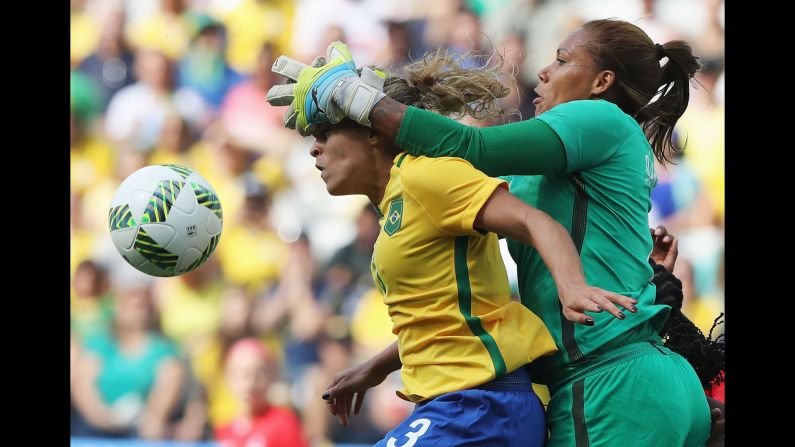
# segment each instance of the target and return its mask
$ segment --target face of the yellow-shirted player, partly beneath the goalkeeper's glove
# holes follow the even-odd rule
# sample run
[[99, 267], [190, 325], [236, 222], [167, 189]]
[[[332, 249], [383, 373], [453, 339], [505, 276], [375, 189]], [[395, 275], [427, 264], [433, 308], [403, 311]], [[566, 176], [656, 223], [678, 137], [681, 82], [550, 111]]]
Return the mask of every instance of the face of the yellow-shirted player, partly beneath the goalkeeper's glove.
[[329, 194], [367, 194], [375, 167], [375, 152], [368, 142], [370, 130], [355, 125], [325, 125], [313, 135], [315, 144], [309, 153], [315, 157], [315, 167]]

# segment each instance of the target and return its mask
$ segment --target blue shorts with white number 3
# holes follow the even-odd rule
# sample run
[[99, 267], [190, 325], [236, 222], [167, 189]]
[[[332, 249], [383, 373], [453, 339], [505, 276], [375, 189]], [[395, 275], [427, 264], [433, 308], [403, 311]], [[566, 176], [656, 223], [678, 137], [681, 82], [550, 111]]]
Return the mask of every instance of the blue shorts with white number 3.
[[544, 407], [519, 368], [423, 402], [374, 447], [540, 447], [546, 439]]

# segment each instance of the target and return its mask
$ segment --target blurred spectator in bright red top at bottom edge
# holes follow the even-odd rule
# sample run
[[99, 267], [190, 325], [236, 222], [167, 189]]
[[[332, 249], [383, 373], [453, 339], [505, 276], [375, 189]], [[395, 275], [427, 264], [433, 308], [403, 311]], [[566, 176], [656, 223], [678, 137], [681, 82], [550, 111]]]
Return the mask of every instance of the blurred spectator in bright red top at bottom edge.
[[215, 437], [222, 447], [303, 447], [301, 421], [287, 408], [271, 405], [268, 390], [278, 365], [253, 338], [235, 343], [226, 357], [226, 382], [241, 411]]

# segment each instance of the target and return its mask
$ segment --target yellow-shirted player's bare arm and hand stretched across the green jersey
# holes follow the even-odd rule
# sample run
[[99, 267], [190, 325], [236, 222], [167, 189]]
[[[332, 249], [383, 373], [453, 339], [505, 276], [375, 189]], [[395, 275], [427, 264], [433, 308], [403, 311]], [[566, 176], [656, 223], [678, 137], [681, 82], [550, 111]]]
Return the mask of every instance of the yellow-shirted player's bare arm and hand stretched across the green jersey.
[[615, 304], [630, 311], [635, 309], [637, 301], [632, 298], [589, 287], [585, 283], [580, 256], [563, 225], [505, 189], [494, 191], [475, 218], [475, 226], [523, 242], [538, 251], [552, 273], [563, 304], [563, 315], [569, 321], [590, 326], [593, 319], [585, 311], [607, 310], [624, 319]]

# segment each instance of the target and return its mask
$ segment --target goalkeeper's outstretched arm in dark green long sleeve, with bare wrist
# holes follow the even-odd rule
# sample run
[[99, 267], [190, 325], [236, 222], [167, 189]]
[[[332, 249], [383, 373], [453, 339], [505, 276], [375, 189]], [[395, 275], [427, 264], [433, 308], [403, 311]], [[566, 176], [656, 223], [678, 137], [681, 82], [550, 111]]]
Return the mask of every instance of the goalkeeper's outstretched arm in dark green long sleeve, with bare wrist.
[[413, 155], [463, 158], [491, 176], [560, 174], [566, 169], [563, 143], [541, 120], [479, 128], [415, 107], [388, 110], [381, 109], [388, 117], [384, 128], [394, 131], [400, 118], [396, 144]]

